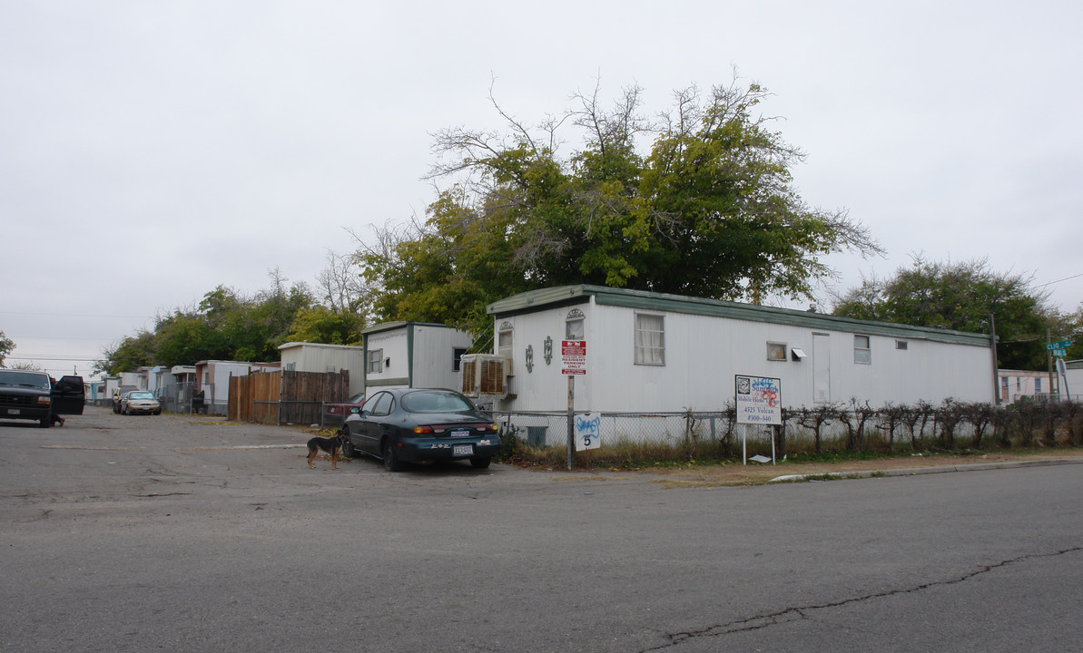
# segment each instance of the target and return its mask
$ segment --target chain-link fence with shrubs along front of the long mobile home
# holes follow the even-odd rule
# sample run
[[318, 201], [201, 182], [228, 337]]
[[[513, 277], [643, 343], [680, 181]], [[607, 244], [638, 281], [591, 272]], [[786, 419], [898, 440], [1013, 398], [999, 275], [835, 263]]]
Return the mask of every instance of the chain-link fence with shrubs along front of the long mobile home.
[[[504, 436], [529, 448], [566, 448], [566, 412], [490, 411]], [[576, 413], [576, 415], [586, 413]], [[597, 413], [601, 448], [670, 451], [696, 457], [779, 456], [847, 451], [913, 451], [991, 447], [1083, 445], [1083, 404], [1031, 402], [999, 408], [947, 401], [941, 405], [857, 403], [783, 410], [781, 426], [736, 423], [732, 407], [715, 412]]]

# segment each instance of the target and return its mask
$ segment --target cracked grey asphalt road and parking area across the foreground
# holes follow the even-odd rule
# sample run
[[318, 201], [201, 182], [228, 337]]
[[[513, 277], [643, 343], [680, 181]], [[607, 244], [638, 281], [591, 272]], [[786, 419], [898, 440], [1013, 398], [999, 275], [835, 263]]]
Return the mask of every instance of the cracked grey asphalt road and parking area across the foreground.
[[1083, 651], [1083, 466], [752, 488], [0, 423], [0, 651]]

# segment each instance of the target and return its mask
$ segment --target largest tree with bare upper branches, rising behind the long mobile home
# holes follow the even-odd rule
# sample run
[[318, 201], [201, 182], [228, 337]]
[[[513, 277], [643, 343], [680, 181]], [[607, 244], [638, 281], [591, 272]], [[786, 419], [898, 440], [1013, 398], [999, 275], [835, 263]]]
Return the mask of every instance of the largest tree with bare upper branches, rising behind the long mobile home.
[[[650, 121], [640, 89], [611, 108], [596, 89], [536, 126], [494, 101], [506, 133], [438, 133], [431, 178], [452, 185], [423, 223], [387, 226], [358, 252], [376, 314], [482, 329], [487, 303], [573, 283], [753, 302], [810, 295], [832, 275], [824, 254], [880, 249], [846, 211], [801, 200], [791, 168], [805, 155], [756, 114], [767, 95], [736, 82], [690, 88]], [[565, 157], [566, 128], [580, 147]]]

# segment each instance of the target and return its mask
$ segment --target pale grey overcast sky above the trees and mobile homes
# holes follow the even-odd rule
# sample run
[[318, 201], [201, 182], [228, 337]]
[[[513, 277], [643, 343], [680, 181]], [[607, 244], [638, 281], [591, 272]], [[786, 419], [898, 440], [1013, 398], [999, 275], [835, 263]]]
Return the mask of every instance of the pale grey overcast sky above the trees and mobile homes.
[[[422, 215], [442, 128], [575, 91], [773, 96], [795, 185], [887, 249], [1083, 301], [1083, 3], [0, 0], [0, 331], [54, 375], [224, 284], [314, 284], [347, 229]], [[824, 308], [830, 301], [820, 298]]]

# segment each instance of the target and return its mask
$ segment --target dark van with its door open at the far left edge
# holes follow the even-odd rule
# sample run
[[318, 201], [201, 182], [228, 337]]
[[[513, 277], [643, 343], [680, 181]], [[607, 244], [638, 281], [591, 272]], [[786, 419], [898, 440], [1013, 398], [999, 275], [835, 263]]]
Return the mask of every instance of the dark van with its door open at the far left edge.
[[84, 400], [81, 376], [53, 381], [44, 372], [0, 370], [0, 418], [37, 419], [43, 428], [57, 415], [81, 415]]

